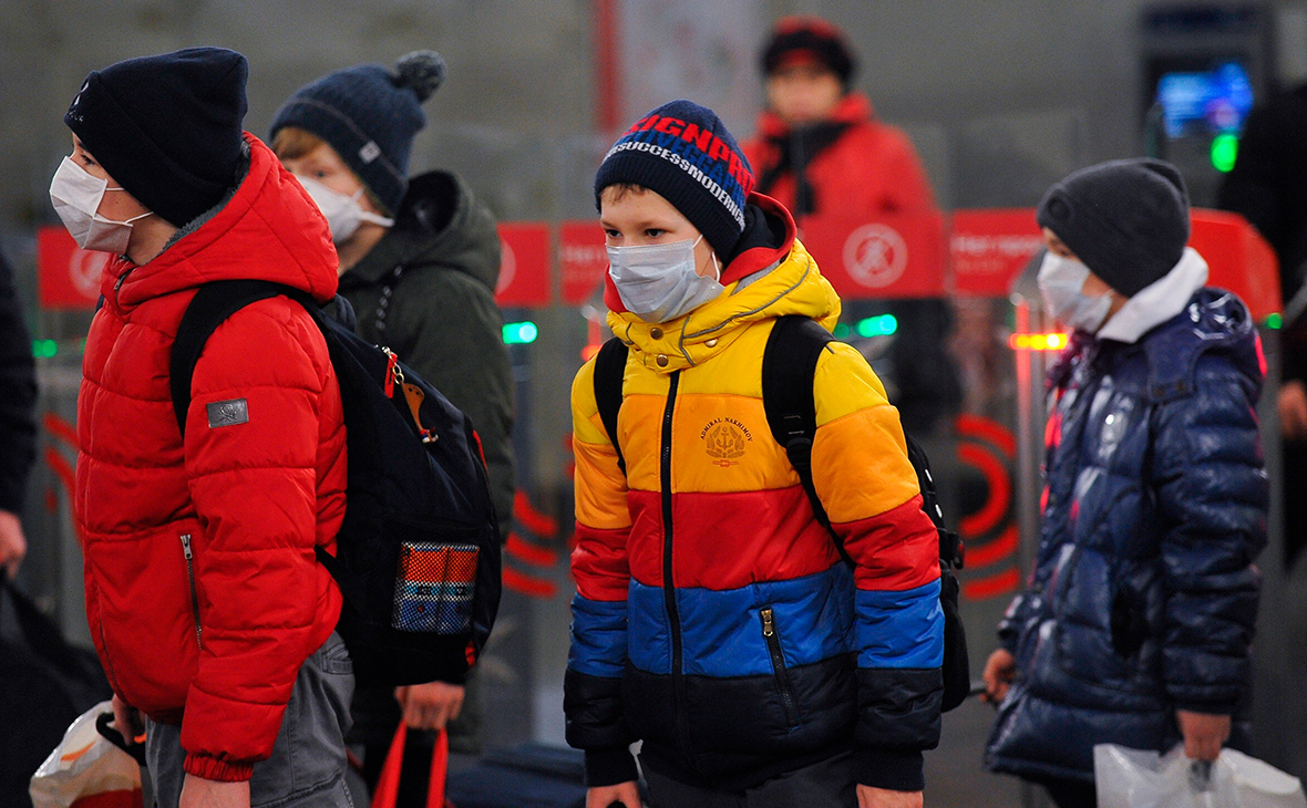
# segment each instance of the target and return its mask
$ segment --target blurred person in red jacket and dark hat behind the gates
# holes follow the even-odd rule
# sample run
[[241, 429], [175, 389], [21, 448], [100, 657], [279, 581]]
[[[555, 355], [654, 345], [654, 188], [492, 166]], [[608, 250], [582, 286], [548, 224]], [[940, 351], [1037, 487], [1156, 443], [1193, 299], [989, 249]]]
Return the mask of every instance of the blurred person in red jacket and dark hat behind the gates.
[[[870, 101], [852, 89], [856, 59], [843, 31], [818, 17], [783, 17], [761, 63], [767, 108], [744, 151], [758, 178], [755, 191], [793, 213], [800, 238], [833, 221], [938, 213], [912, 141], [876, 120]], [[843, 260], [818, 249], [813, 255], [826, 268]], [[898, 332], [887, 352], [886, 388], [903, 428], [919, 437], [932, 435], [962, 403], [958, 369], [945, 347], [953, 329], [948, 303], [846, 304], [846, 316], [855, 320], [894, 315]]]

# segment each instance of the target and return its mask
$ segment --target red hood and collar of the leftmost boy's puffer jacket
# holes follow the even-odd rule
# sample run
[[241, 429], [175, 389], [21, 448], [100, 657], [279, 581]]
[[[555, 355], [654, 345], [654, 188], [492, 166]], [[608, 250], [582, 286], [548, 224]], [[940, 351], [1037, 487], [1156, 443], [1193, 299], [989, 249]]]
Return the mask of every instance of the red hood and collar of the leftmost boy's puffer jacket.
[[[250, 171], [226, 202], [183, 228], [154, 260], [110, 261], [106, 302], [133, 307], [210, 281], [272, 281], [325, 303], [336, 294], [336, 249], [327, 221], [268, 146], [244, 133]], [[116, 294], [115, 294], [116, 287]]]

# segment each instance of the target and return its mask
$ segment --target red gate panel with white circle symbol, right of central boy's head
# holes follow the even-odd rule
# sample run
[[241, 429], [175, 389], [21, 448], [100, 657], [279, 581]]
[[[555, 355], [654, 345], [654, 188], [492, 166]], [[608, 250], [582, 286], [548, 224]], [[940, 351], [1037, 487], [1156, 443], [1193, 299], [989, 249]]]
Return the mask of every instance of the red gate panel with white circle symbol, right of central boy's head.
[[812, 215], [799, 232], [840, 298], [938, 298], [944, 295], [944, 217], [886, 215], [874, 222]]

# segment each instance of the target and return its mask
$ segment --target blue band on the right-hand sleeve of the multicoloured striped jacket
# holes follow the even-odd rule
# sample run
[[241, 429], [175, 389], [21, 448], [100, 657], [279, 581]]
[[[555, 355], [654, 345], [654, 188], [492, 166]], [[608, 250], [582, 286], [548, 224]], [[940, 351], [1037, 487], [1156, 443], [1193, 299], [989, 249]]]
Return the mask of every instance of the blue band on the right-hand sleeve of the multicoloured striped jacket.
[[857, 667], [937, 668], [944, 664], [940, 582], [902, 591], [857, 590]]

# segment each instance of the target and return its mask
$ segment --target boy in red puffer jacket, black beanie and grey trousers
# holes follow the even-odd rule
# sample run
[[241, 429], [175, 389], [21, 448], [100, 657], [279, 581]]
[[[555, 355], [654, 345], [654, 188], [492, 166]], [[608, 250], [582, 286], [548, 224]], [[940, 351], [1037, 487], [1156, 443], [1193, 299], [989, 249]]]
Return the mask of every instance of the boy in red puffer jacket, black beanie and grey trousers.
[[182, 315], [209, 281], [336, 292], [327, 222], [242, 132], [244, 56], [188, 48], [82, 84], [51, 201], [112, 253], [77, 398], [86, 616], [162, 808], [350, 805], [354, 677], [335, 633], [345, 424], [322, 332], [285, 298], [238, 311], [169, 389]]

